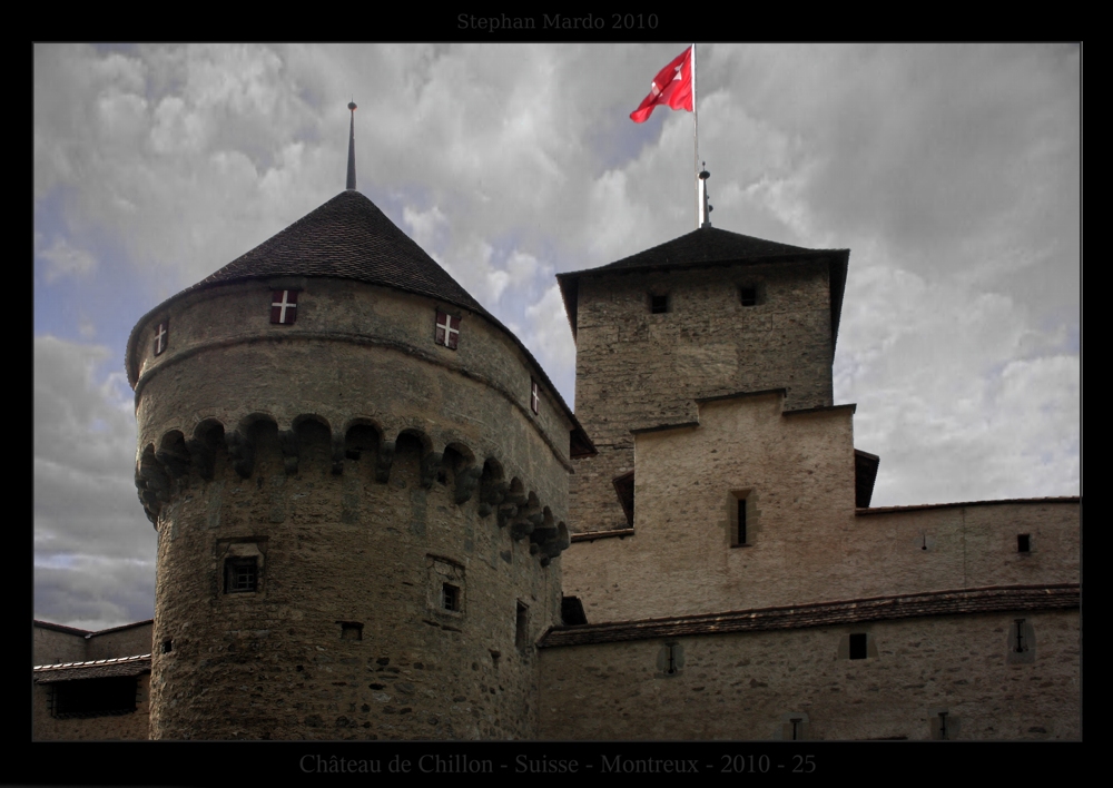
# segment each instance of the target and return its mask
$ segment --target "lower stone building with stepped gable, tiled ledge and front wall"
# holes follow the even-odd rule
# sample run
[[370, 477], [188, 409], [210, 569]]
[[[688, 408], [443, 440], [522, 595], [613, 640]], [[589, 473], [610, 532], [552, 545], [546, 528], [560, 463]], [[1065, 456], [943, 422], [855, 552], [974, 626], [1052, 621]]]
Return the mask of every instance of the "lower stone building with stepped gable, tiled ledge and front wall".
[[1078, 499], [869, 508], [854, 407], [785, 403], [634, 433], [633, 528], [563, 558], [591, 623], [539, 643], [541, 737], [1080, 738]]

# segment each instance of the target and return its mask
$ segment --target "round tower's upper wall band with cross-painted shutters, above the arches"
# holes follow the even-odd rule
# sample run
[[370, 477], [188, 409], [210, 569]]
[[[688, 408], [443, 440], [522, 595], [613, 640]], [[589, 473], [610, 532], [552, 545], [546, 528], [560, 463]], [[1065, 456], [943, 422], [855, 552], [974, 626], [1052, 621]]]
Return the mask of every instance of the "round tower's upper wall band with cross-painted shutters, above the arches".
[[[444, 444], [466, 441], [476, 453], [498, 451], [515, 473], [539, 471], [534, 484], [545, 487], [539, 494], [563, 500], [567, 473], [549, 481], [540, 471], [553, 459], [571, 467], [572, 423], [543, 386], [539, 413], [532, 412], [530, 364], [504, 331], [385, 287], [314, 278], [299, 286], [293, 325], [269, 322], [273, 290], [265, 282], [193, 293], [152, 314], [137, 347], [140, 450], [204, 418], [235, 425], [256, 412], [312, 413], [336, 430], [365, 420], [423, 430]], [[434, 344], [437, 309], [462, 316], [456, 349]], [[166, 318], [169, 346], [155, 356], [154, 328]], [[158, 396], [145, 396], [156, 380]], [[161, 404], [167, 395], [178, 410]], [[542, 454], [530, 454], [538, 445]], [[563, 511], [558, 516], [567, 519]]]

